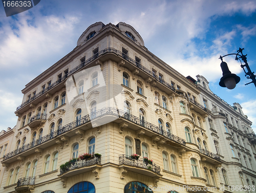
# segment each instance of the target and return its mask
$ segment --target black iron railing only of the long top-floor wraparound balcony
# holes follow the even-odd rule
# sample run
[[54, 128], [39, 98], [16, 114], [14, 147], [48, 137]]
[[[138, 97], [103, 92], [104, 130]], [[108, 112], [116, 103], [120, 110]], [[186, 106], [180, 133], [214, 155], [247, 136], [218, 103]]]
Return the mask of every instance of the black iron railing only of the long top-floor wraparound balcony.
[[53, 87], [55, 87], [56, 85], [58, 85], [59, 83], [63, 82], [67, 77], [77, 73], [77, 71], [79, 71], [82, 67], [84, 67], [85, 65], [87, 65], [88, 63], [92, 62], [93, 60], [97, 59], [98, 57], [107, 54], [107, 53], [114, 53], [118, 56], [121, 56], [123, 59], [131, 62], [133, 65], [137, 66], [138, 68], [140, 68], [142, 71], [144, 71], [145, 73], [147, 73], [148, 75], [151, 75], [152, 77], [154, 77], [158, 82], [162, 83], [163, 85], [167, 86], [168, 88], [172, 89], [175, 91], [175, 88], [170, 85], [169, 83], [165, 82], [163, 79], [155, 76], [155, 74], [153, 74], [153, 72], [147, 68], [145, 68], [144, 66], [142, 66], [140, 63], [136, 62], [135, 60], [133, 60], [132, 58], [130, 58], [129, 56], [126, 56], [125, 54], [123, 54], [122, 52], [120, 52], [119, 50], [116, 50], [112, 47], [106, 48], [100, 52], [98, 52], [97, 54], [95, 54], [94, 56], [92, 56], [91, 58], [89, 58], [88, 60], [84, 61], [83, 63], [81, 63], [80, 65], [76, 66], [75, 68], [73, 68], [68, 74], [66, 74], [65, 76], [61, 77], [60, 79], [58, 79], [56, 82], [52, 83], [51, 85], [49, 85], [47, 88], [45, 88], [44, 90], [38, 92], [37, 94], [35, 94], [34, 96], [32, 96], [29, 100], [25, 101], [24, 103], [22, 103], [21, 105], [19, 105], [16, 108], [16, 111], [19, 110], [20, 108], [26, 106], [27, 104], [29, 104], [30, 102], [34, 101], [35, 99], [37, 99], [39, 96], [41, 96], [42, 94], [44, 94], [45, 92], [47, 92], [48, 90], [52, 89]]

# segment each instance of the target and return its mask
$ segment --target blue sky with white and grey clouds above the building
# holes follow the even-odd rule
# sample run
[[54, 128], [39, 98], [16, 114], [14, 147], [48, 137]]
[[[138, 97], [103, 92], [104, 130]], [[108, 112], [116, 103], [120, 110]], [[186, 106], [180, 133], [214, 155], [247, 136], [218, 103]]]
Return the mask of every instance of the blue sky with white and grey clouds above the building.
[[225, 57], [241, 77], [233, 90], [220, 87], [220, 55], [244, 54], [256, 71], [256, 1], [82, 1], [41, 0], [6, 17], [0, 5], [0, 130], [16, 125], [25, 85], [71, 52], [82, 32], [97, 21], [133, 26], [153, 54], [184, 76], [204, 76], [210, 89], [232, 105], [240, 103], [256, 131], [256, 88], [233, 56]]

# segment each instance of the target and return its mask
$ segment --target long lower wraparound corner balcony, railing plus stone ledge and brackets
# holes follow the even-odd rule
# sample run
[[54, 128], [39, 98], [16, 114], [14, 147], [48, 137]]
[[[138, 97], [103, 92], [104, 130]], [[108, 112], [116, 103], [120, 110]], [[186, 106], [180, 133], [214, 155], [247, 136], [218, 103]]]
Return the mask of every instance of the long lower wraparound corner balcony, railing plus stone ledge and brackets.
[[[65, 136], [72, 137], [76, 134], [80, 134], [81, 132], [79, 130], [85, 131], [90, 129], [91, 126], [89, 126], [88, 124], [91, 122], [91, 119], [104, 121], [104, 120], [109, 120], [110, 117], [115, 117], [116, 120], [114, 120], [114, 122], [118, 124], [122, 123], [122, 119], [126, 120], [128, 123], [131, 123], [131, 126], [130, 126], [131, 129], [139, 130], [141, 128], [145, 128], [146, 129], [145, 133], [150, 135], [151, 137], [156, 136], [156, 134], [166, 137], [167, 139], [169, 139], [166, 141], [166, 143], [170, 144], [171, 146], [176, 146], [176, 147], [185, 146], [185, 140], [176, 135], [163, 131], [159, 127], [151, 123], [142, 121], [139, 117], [134, 116], [130, 113], [119, 110], [115, 107], [106, 107], [106, 108], [97, 110], [96, 112], [93, 112], [91, 114], [88, 114], [86, 116], [83, 116], [79, 120], [75, 120], [74, 122], [71, 122], [70, 124], [61, 127], [59, 130], [54, 131], [53, 133], [50, 133], [44, 137], [41, 137], [35, 141], [32, 141], [26, 144], [25, 146], [4, 155], [2, 163], [8, 164], [16, 160], [24, 160], [26, 156], [31, 155], [34, 152], [41, 153], [42, 150], [50, 146], [53, 146], [56, 143], [59, 143], [61, 141], [66, 141], [67, 138]], [[109, 122], [106, 121], [105, 123], [109, 123]], [[86, 127], [86, 125], [88, 125], [89, 127]], [[70, 130], [75, 130], [75, 129], [77, 129], [76, 132], [69, 132]]]

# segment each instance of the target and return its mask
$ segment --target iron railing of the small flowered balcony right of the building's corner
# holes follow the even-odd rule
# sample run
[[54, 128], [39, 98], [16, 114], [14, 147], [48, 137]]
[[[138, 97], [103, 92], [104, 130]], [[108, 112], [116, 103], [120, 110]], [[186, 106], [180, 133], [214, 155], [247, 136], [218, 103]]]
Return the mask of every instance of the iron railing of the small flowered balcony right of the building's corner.
[[160, 166], [156, 165], [155, 163], [148, 164], [142, 158], [132, 159], [128, 155], [119, 155], [119, 163], [146, 168], [157, 174], [160, 174], [161, 171]]

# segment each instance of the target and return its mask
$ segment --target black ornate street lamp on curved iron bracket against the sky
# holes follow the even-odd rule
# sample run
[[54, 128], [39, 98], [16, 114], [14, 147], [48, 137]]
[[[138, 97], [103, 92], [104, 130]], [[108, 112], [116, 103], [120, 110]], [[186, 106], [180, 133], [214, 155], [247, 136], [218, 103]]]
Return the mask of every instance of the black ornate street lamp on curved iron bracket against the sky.
[[[243, 55], [243, 53], [242, 53], [243, 50], [244, 49], [241, 49], [239, 47], [237, 54], [227, 54], [225, 56], [236, 55], [235, 60], [240, 60], [240, 58], [241, 58], [245, 63], [245, 64], [242, 64], [242, 62], [240, 60], [241, 68], [243, 68], [246, 78], [252, 80], [251, 82], [249, 82], [247, 84], [254, 83], [254, 85], [256, 87], [256, 79], [255, 79], [256, 76], [254, 75], [254, 72], [253, 73], [251, 72], [251, 69], [247, 63], [247, 58], [246, 58], [247, 54]], [[219, 58], [222, 61], [221, 69], [222, 69], [222, 75], [223, 75], [223, 77], [221, 77], [219, 85], [221, 87], [227, 87], [228, 89], [233, 89], [234, 87], [236, 87], [236, 84], [240, 82], [240, 77], [238, 77], [236, 74], [231, 74], [231, 72], [228, 69], [227, 63], [223, 62], [223, 60], [222, 60], [222, 58], [224, 58], [225, 56], [220, 56], [220, 58]], [[238, 56], [239, 56], [239, 58], [238, 58]], [[244, 67], [246, 67], [247, 72], [245, 71]], [[245, 85], [247, 85], [247, 84], [245, 84]]]

